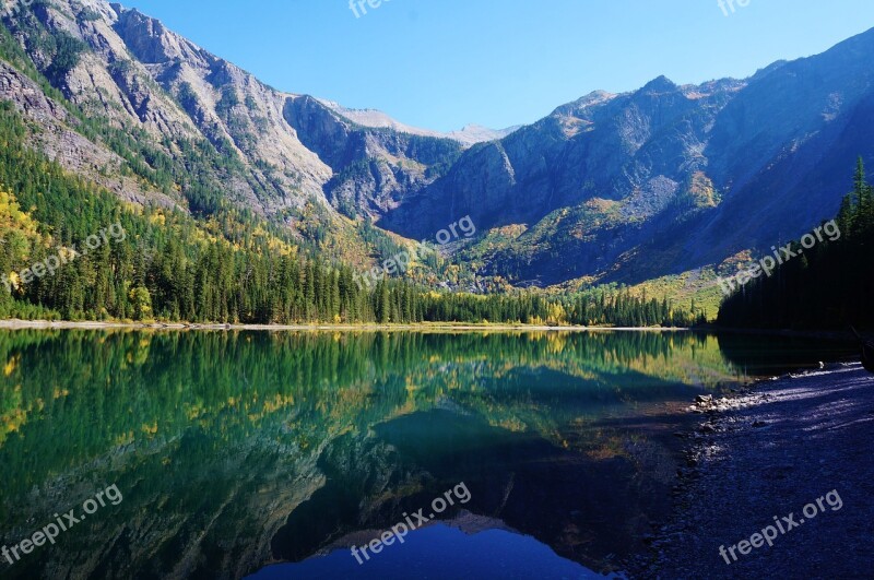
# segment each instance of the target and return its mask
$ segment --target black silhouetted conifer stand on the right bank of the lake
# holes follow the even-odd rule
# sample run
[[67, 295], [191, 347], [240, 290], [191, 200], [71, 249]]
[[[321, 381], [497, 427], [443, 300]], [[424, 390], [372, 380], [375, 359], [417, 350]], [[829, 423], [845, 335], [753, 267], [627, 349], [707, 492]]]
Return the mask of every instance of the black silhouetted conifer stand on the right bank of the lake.
[[[837, 216], [840, 237], [753, 280], [727, 298], [719, 323], [748, 328], [874, 328], [874, 192], [859, 159]], [[798, 248], [794, 248], [798, 250]]]

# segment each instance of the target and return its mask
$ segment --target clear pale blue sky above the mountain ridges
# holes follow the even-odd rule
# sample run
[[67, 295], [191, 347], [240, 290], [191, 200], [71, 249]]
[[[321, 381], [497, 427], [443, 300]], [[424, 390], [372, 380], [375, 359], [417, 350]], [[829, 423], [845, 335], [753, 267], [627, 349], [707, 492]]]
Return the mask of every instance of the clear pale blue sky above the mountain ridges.
[[660, 74], [744, 78], [874, 27], [872, 0], [737, 1], [382, 0], [357, 19], [349, 0], [122, 3], [276, 88], [437, 130], [533, 122]]

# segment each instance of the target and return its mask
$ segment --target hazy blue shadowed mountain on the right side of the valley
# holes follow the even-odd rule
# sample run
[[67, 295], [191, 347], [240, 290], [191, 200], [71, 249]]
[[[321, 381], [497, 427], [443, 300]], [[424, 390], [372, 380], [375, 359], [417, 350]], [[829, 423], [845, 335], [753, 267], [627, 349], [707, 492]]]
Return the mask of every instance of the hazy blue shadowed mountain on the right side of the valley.
[[[874, 31], [743, 80], [593, 93], [466, 151], [380, 225], [418, 237], [460, 215], [511, 232], [485, 271], [639, 282], [798, 239], [874, 159]], [[517, 227], [508, 227], [517, 226]]]

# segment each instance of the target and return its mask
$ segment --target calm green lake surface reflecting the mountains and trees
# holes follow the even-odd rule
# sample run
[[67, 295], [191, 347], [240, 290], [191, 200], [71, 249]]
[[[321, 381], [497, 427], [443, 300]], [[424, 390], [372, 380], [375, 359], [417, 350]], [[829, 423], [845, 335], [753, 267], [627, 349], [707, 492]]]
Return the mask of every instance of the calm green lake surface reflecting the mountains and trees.
[[[689, 332], [0, 331], [0, 543], [19, 546], [0, 577], [590, 578], [670, 510], [681, 406], [847, 354]], [[58, 520], [54, 544], [22, 543]]]

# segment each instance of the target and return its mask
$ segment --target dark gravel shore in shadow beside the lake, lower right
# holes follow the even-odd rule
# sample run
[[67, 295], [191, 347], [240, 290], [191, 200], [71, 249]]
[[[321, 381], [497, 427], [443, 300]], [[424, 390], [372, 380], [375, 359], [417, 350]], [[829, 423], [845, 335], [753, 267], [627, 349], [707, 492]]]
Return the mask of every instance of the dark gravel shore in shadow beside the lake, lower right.
[[[689, 407], [701, 423], [689, 435], [674, 517], [653, 538], [654, 564], [633, 576], [872, 578], [874, 376], [835, 365], [731, 399], [699, 399]], [[817, 513], [805, 518], [808, 505]], [[799, 525], [772, 547], [744, 545], [743, 555], [739, 546], [736, 561], [720, 555], [720, 546], [728, 552], [776, 525], [775, 517], [790, 528], [790, 513]]]

